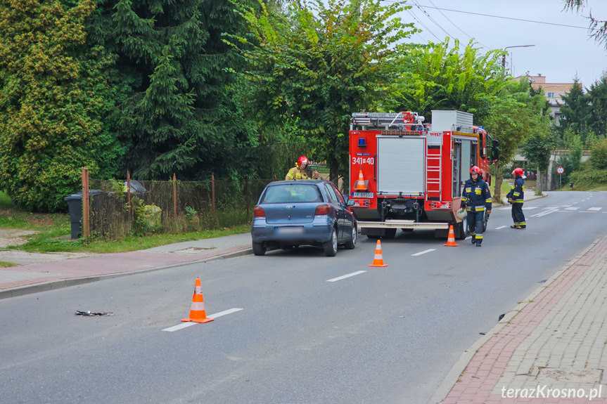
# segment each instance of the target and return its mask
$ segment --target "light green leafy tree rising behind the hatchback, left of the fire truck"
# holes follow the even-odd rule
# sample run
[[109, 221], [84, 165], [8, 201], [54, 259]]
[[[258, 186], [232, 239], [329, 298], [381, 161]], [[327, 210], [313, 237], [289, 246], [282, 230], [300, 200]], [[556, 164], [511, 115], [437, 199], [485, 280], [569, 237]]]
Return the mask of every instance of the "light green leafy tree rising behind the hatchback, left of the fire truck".
[[331, 180], [347, 167], [352, 112], [388, 98], [397, 80], [402, 40], [414, 32], [397, 17], [405, 6], [380, 0], [301, 1], [283, 18], [240, 8], [250, 36], [231, 37], [253, 65], [262, 122], [293, 117], [314, 157], [326, 159]]

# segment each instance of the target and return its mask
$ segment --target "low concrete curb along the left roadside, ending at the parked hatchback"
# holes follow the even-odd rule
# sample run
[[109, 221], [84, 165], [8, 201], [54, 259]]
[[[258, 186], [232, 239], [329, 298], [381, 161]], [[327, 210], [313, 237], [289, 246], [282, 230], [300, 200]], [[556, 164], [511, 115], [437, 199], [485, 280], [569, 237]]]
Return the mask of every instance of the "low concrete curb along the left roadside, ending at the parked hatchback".
[[163, 269], [176, 268], [178, 266], [187, 266], [194, 263], [205, 263], [210, 261], [217, 261], [218, 259], [234, 258], [236, 256], [243, 256], [253, 254], [253, 249], [243, 249], [241, 251], [230, 252], [228, 254], [222, 254], [217, 256], [211, 256], [205, 259], [199, 259], [198, 261], [189, 261], [184, 263], [174, 263], [171, 265], [159, 266], [157, 268], [146, 268], [140, 269], [139, 271], [130, 271], [122, 273], [110, 273], [107, 275], [91, 275], [84, 278], [69, 278], [61, 280], [53, 280], [51, 282], [41, 282], [35, 285], [28, 285], [24, 287], [15, 287], [13, 289], [4, 289], [0, 291], [0, 299], [8, 299], [9, 297], [23, 296], [24, 294], [32, 294], [37, 292], [45, 292], [47, 290], [62, 289], [63, 287], [84, 285], [85, 283], [96, 282], [98, 280], [106, 280], [113, 278], [121, 278], [122, 276], [136, 275], [138, 273], [147, 273], [153, 271], [161, 271]]

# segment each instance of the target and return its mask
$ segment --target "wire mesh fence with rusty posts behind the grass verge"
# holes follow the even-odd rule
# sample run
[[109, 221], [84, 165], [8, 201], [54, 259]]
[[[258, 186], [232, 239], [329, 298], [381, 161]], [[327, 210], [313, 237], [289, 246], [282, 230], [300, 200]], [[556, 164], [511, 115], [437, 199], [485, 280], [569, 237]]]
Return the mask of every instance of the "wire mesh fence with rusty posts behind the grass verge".
[[195, 232], [245, 224], [271, 181], [276, 178], [129, 181], [129, 187], [124, 180], [91, 179], [91, 235], [122, 240], [127, 235]]

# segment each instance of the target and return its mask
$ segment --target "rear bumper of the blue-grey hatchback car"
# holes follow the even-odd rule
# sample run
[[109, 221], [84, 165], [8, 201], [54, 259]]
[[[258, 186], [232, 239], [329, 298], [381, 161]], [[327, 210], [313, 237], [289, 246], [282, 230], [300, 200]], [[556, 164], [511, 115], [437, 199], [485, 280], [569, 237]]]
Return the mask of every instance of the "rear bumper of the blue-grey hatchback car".
[[331, 239], [332, 229], [333, 223], [327, 218], [293, 224], [269, 224], [265, 218], [255, 218], [251, 237], [253, 242], [264, 244], [319, 245]]

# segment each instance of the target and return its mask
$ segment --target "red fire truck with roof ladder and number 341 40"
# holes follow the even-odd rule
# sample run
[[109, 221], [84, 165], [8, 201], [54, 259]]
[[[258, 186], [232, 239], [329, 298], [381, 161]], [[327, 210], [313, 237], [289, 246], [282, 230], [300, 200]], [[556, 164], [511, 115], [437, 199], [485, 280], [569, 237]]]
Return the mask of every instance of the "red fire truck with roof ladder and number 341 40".
[[466, 237], [466, 218], [456, 214], [464, 182], [476, 165], [491, 183], [489, 165], [499, 159], [499, 142], [472, 119], [461, 111], [432, 111], [432, 124], [409, 111], [352, 114], [350, 199], [362, 234], [434, 229], [447, 237], [453, 225], [456, 238]]

